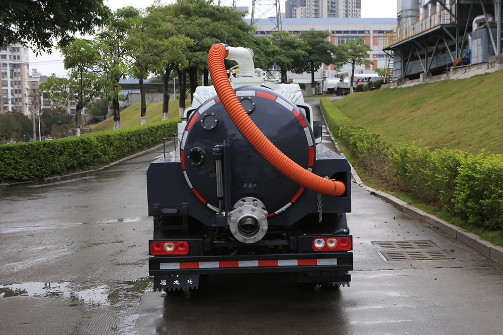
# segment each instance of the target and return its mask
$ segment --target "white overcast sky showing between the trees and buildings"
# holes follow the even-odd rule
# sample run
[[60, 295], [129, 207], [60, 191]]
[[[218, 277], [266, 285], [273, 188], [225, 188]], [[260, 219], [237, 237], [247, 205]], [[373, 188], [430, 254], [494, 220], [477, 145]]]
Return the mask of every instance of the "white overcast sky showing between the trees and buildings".
[[[213, 0], [218, 4], [218, 0]], [[228, 0], [229, 1], [229, 0]], [[104, 4], [112, 11], [125, 6], [136, 8], [146, 8], [153, 5], [154, 0], [105, 0]], [[161, 0], [161, 4], [172, 4], [175, 0]], [[251, 0], [236, 0], [236, 6], [247, 6], [251, 12]], [[284, 11], [285, 2], [280, 0], [280, 9]], [[362, 0], [362, 18], [396, 18], [396, 0]], [[52, 54], [42, 53], [36, 56], [34, 52], [30, 53], [30, 74], [31, 69], [37, 69], [42, 75], [50, 76], [55, 73], [56, 76], [63, 77], [66, 71], [63, 66], [63, 59], [58, 50], [53, 50]]]

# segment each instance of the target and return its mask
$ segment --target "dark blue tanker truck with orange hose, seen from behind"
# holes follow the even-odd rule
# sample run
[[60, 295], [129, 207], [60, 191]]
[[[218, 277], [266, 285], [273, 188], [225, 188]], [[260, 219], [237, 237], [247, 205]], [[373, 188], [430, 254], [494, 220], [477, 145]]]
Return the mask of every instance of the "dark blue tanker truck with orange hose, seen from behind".
[[[321, 123], [300, 87], [268, 82], [252, 57], [241, 47], [210, 49], [214, 86], [196, 92], [179, 147], [148, 168], [154, 290], [259, 273], [349, 286], [350, 166], [316, 145]], [[230, 79], [224, 59], [239, 65]]]

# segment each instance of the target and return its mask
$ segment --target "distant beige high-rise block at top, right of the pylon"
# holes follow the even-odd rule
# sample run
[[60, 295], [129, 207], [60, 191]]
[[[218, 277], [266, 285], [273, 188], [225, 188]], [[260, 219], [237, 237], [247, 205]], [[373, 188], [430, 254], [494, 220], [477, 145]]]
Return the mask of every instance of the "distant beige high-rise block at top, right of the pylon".
[[287, 0], [286, 19], [361, 18], [361, 0]]

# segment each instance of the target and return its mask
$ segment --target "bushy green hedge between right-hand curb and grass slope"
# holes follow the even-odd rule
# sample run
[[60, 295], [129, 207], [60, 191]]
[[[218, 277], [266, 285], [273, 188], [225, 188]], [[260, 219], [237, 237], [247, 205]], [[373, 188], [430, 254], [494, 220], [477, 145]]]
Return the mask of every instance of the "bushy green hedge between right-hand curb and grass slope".
[[320, 99], [334, 137], [375, 178], [399, 191], [455, 213], [474, 226], [503, 228], [503, 156], [459, 150], [423, 150], [415, 143], [387, 145]]

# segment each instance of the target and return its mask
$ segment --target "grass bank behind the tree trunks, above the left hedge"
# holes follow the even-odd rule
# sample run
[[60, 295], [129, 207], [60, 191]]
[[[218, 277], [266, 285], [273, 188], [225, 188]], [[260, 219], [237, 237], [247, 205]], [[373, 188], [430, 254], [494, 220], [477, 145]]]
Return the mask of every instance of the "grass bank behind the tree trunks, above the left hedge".
[[[186, 106], [190, 106], [190, 99], [185, 101]], [[127, 107], [121, 111], [121, 128], [129, 128], [133, 126], [139, 126], [141, 124], [140, 120], [140, 107], [139, 103], [135, 103], [132, 106]], [[171, 118], [176, 118], [179, 116], [179, 100], [170, 100], [169, 106], [169, 116]], [[162, 101], [155, 103], [147, 103], [146, 111], [147, 124], [158, 122], [162, 120]], [[105, 121], [100, 122], [94, 126], [91, 126], [91, 132], [100, 132], [114, 129], [114, 117], [110, 117]]]

